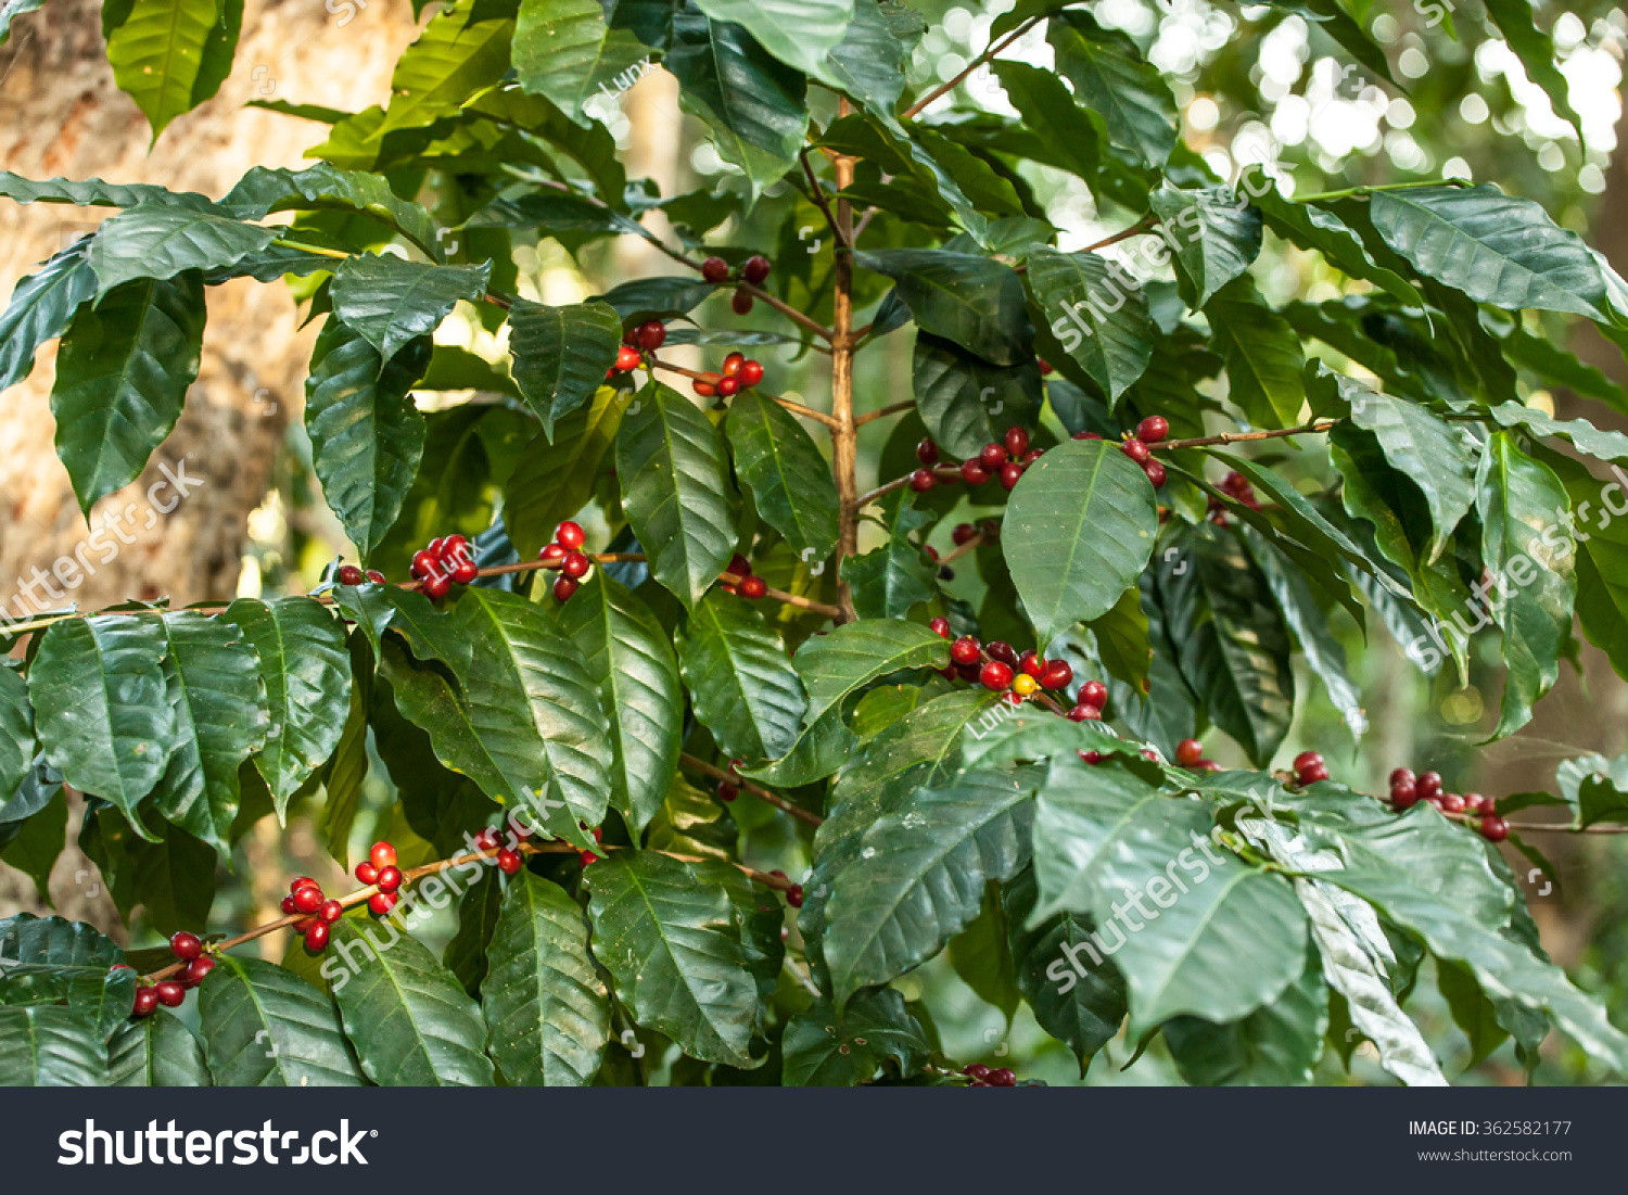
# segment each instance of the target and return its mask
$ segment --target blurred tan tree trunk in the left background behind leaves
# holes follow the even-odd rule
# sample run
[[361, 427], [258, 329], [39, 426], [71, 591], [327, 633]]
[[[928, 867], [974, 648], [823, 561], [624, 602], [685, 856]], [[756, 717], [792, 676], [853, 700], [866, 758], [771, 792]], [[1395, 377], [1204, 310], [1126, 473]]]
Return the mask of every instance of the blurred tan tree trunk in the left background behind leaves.
[[[233, 73], [220, 94], [182, 116], [148, 153], [150, 130], [117, 90], [106, 60], [98, 0], [50, 0], [18, 18], [0, 49], [0, 168], [29, 177], [104, 177], [158, 182], [223, 195], [254, 164], [293, 166], [322, 140], [322, 125], [243, 104], [278, 98], [357, 111], [389, 98], [391, 70], [414, 39], [407, 0], [335, 5], [321, 0], [251, 2]], [[348, 13], [348, 16], [347, 16]], [[340, 21], [345, 21], [340, 26]], [[91, 231], [106, 208], [0, 202], [0, 295], [34, 262]], [[104, 498], [91, 519], [133, 505], [135, 542], [68, 594], [81, 609], [127, 598], [168, 596], [176, 606], [230, 599], [244, 549], [244, 518], [260, 505], [290, 418], [298, 418], [313, 330], [298, 330], [287, 288], [239, 278], [208, 293], [208, 329], [186, 414], [147, 472]], [[18, 576], [72, 555], [88, 526], [52, 448], [50, 383], [55, 348], [0, 402], [0, 602]], [[200, 488], [147, 524], [147, 490], [160, 466], [186, 467]], [[127, 532], [129, 534], [129, 532]], [[98, 554], [91, 554], [94, 558]], [[75, 803], [77, 804], [77, 803]], [[75, 840], [78, 809], [68, 825]], [[75, 881], [75, 876], [80, 881]], [[119, 926], [78, 851], [57, 861], [50, 891], [65, 917]], [[44, 912], [33, 882], [0, 865], [0, 917]]]

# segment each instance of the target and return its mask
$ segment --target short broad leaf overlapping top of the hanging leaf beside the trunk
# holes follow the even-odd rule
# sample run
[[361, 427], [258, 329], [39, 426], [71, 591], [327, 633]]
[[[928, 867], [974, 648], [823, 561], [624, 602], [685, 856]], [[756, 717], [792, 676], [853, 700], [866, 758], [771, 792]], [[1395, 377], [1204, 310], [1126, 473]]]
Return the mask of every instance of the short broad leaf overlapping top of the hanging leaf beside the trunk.
[[334, 272], [334, 314], [387, 361], [440, 327], [457, 300], [479, 301], [490, 272], [490, 262], [427, 265], [392, 254], [347, 257]]

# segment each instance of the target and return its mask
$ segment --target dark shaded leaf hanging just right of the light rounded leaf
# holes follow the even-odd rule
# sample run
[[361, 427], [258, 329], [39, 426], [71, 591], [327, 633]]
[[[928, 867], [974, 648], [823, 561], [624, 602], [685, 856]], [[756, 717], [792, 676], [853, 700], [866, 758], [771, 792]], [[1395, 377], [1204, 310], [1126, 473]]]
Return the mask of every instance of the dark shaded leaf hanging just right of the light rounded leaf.
[[1283, 614], [1242, 542], [1180, 531], [1158, 562], [1166, 633], [1211, 721], [1265, 767], [1289, 733], [1294, 672]]

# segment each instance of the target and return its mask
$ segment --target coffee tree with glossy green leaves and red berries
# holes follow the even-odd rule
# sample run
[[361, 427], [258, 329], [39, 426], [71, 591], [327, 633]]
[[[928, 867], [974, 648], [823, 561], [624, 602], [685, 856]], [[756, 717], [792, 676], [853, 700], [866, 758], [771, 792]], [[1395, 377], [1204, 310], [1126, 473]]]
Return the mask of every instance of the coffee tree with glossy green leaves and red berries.
[[[1509, 8], [1490, 28], [1556, 86]], [[1389, 78], [1332, 0], [1291, 10]], [[218, 86], [239, 18], [107, 5], [155, 132]], [[0, 174], [13, 202], [117, 208], [0, 316], [0, 387], [60, 340], [86, 516], [174, 428], [207, 288], [288, 280], [321, 319], [311, 466], [357, 555], [309, 596], [8, 625], [8, 861], [49, 871], [77, 790], [119, 907], [174, 936], [124, 954], [0, 923], [0, 1081], [625, 1083], [648, 1044], [674, 1083], [1008, 1086], [892, 987], [946, 948], [1081, 1068], [1123, 1027], [1192, 1083], [1304, 1083], [1361, 1040], [1442, 1083], [1403, 1009], [1429, 954], [1478, 1040], [1534, 1065], [1558, 1027], [1628, 1071], [1498, 845], [1547, 866], [1508, 819], [1527, 806], [1621, 819], [1618, 765], [1498, 808], [1405, 768], [1354, 791], [1311, 752], [1270, 770], [1296, 653], [1361, 733], [1348, 620], [1426, 672], [1501, 656], [1496, 736], [1574, 625], [1628, 669], [1623, 492], [1595, 479], [1628, 438], [1522, 402], [1620, 404], [1555, 337], [1628, 344], [1621, 278], [1490, 184], [1218, 177], [1144, 47], [1084, 7], [1021, 0], [936, 88], [910, 70], [925, 31], [892, 0], [459, 0], [386, 107], [282, 106], [330, 125], [308, 169], [220, 199]], [[1053, 70], [998, 57], [1031, 34]], [[584, 111], [651, 62], [731, 164], [721, 189], [628, 179]], [[1014, 117], [923, 116], [983, 68]], [[1122, 231], [1063, 249], [1040, 169]], [[1270, 303], [1268, 233], [1346, 296]], [[615, 236], [671, 269], [565, 306], [518, 293], [516, 247]], [[703, 326], [715, 295], [751, 330]], [[433, 342], [459, 303], [506, 361]], [[856, 357], [894, 335], [912, 392], [863, 392]], [[829, 404], [775, 392], [796, 361], [829, 366]], [[475, 397], [425, 414], [415, 391]], [[1298, 487], [1289, 446], [1332, 484]], [[944, 588], [969, 567], [977, 607]], [[353, 860], [371, 759], [396, 832]], [[742, 861], [747, 803], [807, 874]], [[357, 887], [293, 879], [280, 920], [205, 941], [217, 863], [296, 808]], [[454, 900], [436, 957], [414, 928]], [[274, 933], [282, 965], [234, 949]], [[192, 990], [197, 1034], [168, 1011]]]

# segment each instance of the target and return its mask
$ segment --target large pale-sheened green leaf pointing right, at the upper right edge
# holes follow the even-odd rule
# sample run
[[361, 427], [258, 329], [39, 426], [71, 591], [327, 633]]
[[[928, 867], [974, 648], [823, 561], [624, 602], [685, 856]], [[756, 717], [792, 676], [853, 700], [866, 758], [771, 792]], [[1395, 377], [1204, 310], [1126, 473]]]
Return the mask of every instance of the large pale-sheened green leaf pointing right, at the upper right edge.
[[1610, 319], [1605, 278], [1589, 246], [1530, 199], [1490, 182], [1382, 190], [1369, 200], [1369, 217], [1420, 274], [1477, 303]]

